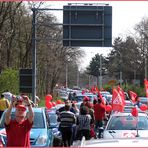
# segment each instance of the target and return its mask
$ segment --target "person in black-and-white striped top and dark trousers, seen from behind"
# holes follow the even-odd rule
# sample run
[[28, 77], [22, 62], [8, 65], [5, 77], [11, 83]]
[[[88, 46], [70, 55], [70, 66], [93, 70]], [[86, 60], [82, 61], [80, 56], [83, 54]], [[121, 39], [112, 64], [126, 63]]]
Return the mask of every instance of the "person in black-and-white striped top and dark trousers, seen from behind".
[[60, 113], [58, 121], [64, 147], [70, 147], [73, 143], [73, 126], [76, 125], [76, 116], [70, 111], [70, 104], [65, 104], [65, 111]]

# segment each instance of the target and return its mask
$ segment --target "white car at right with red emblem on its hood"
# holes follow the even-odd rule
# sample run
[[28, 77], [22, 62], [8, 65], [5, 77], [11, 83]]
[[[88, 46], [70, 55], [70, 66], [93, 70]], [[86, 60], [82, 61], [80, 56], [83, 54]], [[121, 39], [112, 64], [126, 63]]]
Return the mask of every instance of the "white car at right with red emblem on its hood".
[[131, 113], [113, 113], [104, 129], [104, 139], [114, 138], [148, 138], [148, 116], [146, 113], [138, 113], [138, 117]]

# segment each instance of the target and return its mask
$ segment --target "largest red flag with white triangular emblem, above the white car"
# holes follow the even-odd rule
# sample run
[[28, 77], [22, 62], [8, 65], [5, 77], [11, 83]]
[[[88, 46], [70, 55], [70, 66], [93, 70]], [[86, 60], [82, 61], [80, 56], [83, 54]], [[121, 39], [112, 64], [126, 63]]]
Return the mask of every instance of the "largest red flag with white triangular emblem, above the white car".
[[112, 110], [118, 112], [124, 111], [124, 103], [122, 100], [122, 96], [115, 88], [113, 89], [113, 96], [112, 96]]

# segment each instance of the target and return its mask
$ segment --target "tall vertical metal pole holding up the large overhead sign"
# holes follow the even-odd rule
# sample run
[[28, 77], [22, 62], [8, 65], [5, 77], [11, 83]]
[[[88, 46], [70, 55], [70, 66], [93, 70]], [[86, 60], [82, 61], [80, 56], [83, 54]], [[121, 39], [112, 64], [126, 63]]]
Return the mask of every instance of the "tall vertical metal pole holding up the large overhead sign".
[[32, 12], [32, 100], [36, 104], [36, 9]]

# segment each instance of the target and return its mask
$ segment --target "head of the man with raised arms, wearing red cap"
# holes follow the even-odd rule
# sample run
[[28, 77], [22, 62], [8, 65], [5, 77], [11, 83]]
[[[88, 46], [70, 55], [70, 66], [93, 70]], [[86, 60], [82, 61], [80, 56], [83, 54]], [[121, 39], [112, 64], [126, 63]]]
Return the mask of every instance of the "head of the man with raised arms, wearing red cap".
[[16, 110], [15, 110], [15, 118], [18, 121], [22, 121], [24, 120], [24, 118], [26, 117], [26, 106], [23, 104], [17, 104], [15, 106]]

